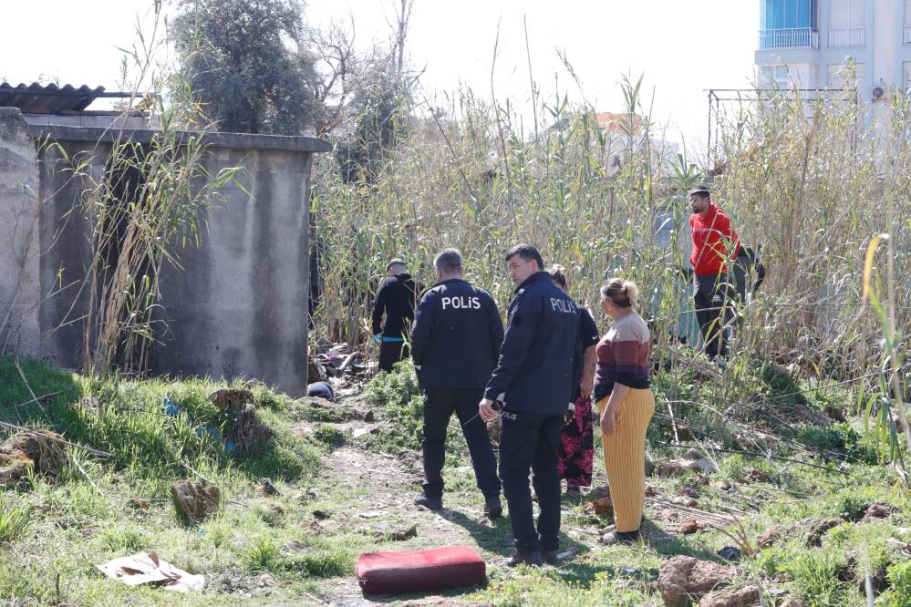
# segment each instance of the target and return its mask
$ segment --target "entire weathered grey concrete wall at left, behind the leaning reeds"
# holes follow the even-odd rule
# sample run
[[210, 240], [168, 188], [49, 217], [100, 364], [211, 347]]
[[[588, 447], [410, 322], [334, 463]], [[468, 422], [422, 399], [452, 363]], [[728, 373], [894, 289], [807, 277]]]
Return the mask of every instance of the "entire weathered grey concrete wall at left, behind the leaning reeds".
[[[7, 113], [16, 114], [16, 128], [0, 121], [0, 237], [8, 241], [22, 233], [12, 229], [13, 220], [32, 217], [35, 229], [25, 241], [16, 236], [16, 242], [31, 242], [33, 250], [42, 251], [26, 265], [26, 294], [17, 302], [31, 303], [32, 312], [16, 329], [16, 351], [78, 367], [85, 350], [82, 319], [88, 311], [93, 220], [79, 199], [87, 184], [74, 180], [67, 169], [84, 159], [89, 171], [100, 175], [116, 133], [29, 126], [18, 110]], [[153, 131], [131, 131], [129, 136], [147, 143]], [[36, 141], [47, 138], [59, 148], [36, 147]], [[313, 153], [329, 146], [305, 137], [232, 133], [205, 140], [210, 176], [234, 166], [243, 172], [238, 184], [222, 190], [224, 200], [199, 218], [209, 226], [202, 245], [174, 251], [181, 269], [166, 266], [160, 274], [159, 320], [164, 323], [151, 351], [150, 370], [174, 376], [245, 376], [293, 396], [304, 394], [309, 174]], [[16, 194], [13, 184], [24, 179], [34, 196]], [[21, 248], [21, 243], [17, 249], [5, 242], [0, 247], [0, 306], [10, 298], [8, 276]], [[0, 318], [3, 314], [0, 307]]]

